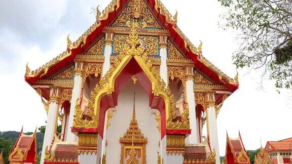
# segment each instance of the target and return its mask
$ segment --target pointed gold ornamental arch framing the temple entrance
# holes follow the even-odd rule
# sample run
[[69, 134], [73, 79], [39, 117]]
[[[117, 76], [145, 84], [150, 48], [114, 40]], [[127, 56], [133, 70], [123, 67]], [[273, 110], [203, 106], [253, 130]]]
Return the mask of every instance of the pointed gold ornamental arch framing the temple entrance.
[[[124, 44], [120, 54], [117, 56], [115, 62], [111, 65], [104, 78], [101, 78], [99, 84], [96, 85], [91, 93], [91, 99], [88, 103], [87, 114], [92, 117], [92, 120], [82, 120], [80, 107], [75, 109], [74, 127], [96, 127], [99, 126], [100, 117], [100, 103], [105, 96], [111, 96], [115, 92], [115, 82], [125, 67], [135, 60], [135, 62], [142, 69], [151, 82], [151, 94], [153, 97], [162, 98], [165, 106], [165, 118], [161, 119], [161, 125], [166, 125], [166, 129], [189, 129], [189, 109], [185, 109], [181, 115], [180, 121], [173, 122], [176, 117], [174, 97], [170, 89], [165, 86], [161, 80], [159, 71], [153, 66], [147, 54], [144, 53], [142, 44], [137, 34], [137, 22], [133, 22], [131, 33], [128, 36], [127, 43]], [[136, 76], [139, 80], [139, 76]], [[111, 97], [113, 98], [113, 97]], [[107, 108], [108, 109], [108, 108]], [[105, 109], [105, 111], [107, 110]], [[160, 110], [161, 112], [162, 110]], [[161, 113], [164, 115], [163, 113]], [[104, 117], [104, 115], [103, 115]], [[103, 118], [102, 117], [102, 118]], [[163, 122], [163, 121], [166, 122]]]

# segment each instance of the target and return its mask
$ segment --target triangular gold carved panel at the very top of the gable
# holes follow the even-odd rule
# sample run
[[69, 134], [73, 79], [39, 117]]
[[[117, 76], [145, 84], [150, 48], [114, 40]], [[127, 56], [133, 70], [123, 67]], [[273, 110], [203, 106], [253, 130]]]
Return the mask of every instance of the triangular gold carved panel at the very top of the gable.
[[112, 26], [130, 27], [134, 19], [140, 28], [162, 28], [144, 0], [130, 0]]

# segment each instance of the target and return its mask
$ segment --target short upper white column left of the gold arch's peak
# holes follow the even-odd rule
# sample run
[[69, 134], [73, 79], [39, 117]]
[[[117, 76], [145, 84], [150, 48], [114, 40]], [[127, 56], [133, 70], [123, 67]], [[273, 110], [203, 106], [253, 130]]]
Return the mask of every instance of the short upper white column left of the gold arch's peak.
[[111, 67], [111, 55], [113, 51], [113, 38], [114, 33], [105, 33], [105, 46], [104, 46], [104, 62], [102, 67], [102, 77], [106, 74], [106, 72], [109, 70], [109, 67]]

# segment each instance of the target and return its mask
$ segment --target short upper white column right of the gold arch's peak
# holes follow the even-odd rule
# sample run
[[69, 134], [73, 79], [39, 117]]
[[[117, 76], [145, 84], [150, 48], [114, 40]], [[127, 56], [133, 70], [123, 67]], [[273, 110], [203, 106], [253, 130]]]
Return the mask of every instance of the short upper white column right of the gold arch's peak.
[[159, 36], [159, 54], [161, 58], [160, 64], [160, 76], [164, 80], [165, 86], [168, 86], [168, 76], [167, 76], [167, 36]]

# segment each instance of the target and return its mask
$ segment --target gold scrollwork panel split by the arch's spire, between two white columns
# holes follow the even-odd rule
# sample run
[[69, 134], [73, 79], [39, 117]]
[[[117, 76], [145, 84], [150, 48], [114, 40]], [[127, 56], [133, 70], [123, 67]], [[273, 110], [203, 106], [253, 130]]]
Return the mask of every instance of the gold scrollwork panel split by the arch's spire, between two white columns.
[[[115, 34], [114, 54], [119, 54], [127, 42], [128, 35]], [[158, 37], [157, 36], [139, 36], [140, 42], [145, 46], [145, 54], [158, 56]]]

